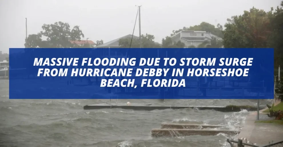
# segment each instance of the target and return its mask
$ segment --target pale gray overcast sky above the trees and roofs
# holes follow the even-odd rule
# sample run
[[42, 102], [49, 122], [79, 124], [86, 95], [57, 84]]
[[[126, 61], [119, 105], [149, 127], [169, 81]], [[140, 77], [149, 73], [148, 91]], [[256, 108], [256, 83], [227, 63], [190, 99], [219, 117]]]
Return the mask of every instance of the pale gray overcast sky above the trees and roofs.
[[[43, 24], [68, 22], [79, 25], [85, 39], [108, 42], [132, 34], [137, 7], [141, 7], [141, 33], [153, 34], [160, 42], [172, 30], [184, 26], [226, 23], [253, 6], [269, 11], [281, 0], [0, 0], [1, 48], [24, 47], [27, 33], [37, 34]], [[138, 23], [137, 23], [138, 24]], [[134, 35], [138, 36], [138, 25]]]

